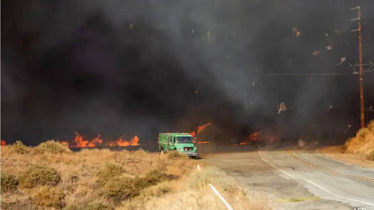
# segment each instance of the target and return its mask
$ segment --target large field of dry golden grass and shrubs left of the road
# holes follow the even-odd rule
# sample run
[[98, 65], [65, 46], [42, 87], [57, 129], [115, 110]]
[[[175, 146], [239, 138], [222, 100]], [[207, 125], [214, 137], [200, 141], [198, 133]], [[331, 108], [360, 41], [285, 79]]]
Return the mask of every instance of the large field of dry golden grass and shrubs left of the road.
[[209, 183], [234, 209], [269, 209], [221, 170], [174, 152], [71, 152], [53, 141], [18, 142], [1, 146], [1, 173], [1, 209], [226, 209]]

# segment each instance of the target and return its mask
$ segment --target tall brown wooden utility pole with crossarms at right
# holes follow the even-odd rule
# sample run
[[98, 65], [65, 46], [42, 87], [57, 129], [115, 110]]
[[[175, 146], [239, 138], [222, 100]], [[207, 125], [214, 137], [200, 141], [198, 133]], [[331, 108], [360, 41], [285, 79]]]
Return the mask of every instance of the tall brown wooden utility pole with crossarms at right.
[[[362, 31], [361, 31], [361, 11], [360, 6], [354, 7], [352, 9], [357, 9], [357, 22], [358, 22], [358, 29], [352, 31], [358, 31], [358, 56], [359, 56], [359, 74], [360, 74], [360, 112], [361, 112], [361, 128], [365, 127], [365, 109], [364, 109], [364, 78], [363, 78], [363, 70], [362, 70]], [[356, 20], [356, 19], [352, 19]]]

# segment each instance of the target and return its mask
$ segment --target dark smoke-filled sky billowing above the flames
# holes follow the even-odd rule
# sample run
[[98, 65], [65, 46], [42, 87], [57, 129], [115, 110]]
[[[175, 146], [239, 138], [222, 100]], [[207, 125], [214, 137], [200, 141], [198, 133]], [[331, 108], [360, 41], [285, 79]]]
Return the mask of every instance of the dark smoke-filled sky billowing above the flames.
[[[352, 73], [357, 5], [364, 63], [374, 62], [369, 0], [1, 1], [1, 139], [35, 145], [77, 131], [144, 143], [207, 122], [220, 141], [266, 128], [328, 140], [351, 124], [348, 137], [357, 74], [267, 73]], [[367, 108], [373, 81], [364, 74]]]

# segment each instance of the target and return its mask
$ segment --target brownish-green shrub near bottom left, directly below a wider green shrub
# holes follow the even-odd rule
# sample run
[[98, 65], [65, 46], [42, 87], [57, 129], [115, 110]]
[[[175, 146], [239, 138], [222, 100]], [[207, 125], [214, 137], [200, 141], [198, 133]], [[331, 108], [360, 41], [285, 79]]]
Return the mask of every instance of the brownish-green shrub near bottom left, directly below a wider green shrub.
[[61, 209], [65, 207], [65, 194], [61, 188], [42, 186], [34, 195], [35, 204], [41, 207], [53, 207]]

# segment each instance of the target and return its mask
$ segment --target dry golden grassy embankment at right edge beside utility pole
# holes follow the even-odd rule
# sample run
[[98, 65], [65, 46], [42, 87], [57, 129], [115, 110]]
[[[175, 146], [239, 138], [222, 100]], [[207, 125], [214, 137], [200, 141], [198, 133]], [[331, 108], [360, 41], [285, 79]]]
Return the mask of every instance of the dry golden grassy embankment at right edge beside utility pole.
[[374, 161], [374, 120], [347, 140], [343, 150]]

